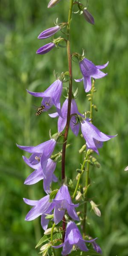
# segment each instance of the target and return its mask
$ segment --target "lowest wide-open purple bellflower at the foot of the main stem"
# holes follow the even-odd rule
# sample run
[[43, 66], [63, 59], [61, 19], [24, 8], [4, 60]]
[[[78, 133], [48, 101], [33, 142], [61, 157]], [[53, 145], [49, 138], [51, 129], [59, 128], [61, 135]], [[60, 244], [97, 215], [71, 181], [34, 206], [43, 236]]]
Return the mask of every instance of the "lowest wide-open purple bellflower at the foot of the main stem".
[[67, 254], [71, 253], [71, 250], [73, 249], [73, 246], [79, 247], [82, 251], [88, 251], [87, 246], [85, 245], [85, 242], [90, 243], [93, 242], [93, 240], [84, 240], [82, 239], [81, 233], [79, 231], [79, 228], [76, 226], [76, 224], [73, 221], [68, 222], [66, 233], [65, 233], [65, 239], [64, 243], [53, 246], [54, 248], [60, 248], [63, 246], [62, 255], [66, 256]]

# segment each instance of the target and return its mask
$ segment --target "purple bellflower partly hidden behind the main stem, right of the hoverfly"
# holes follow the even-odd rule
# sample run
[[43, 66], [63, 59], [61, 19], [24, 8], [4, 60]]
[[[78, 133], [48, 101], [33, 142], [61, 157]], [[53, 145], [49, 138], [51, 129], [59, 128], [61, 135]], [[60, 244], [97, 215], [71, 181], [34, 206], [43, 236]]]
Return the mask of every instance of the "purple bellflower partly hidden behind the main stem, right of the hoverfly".
[[[61, 113], [62, 113], [62, 117], [58, 115], [58, 113], [52, 113], [52, 114], [49, 114], [50, 117], [56, 117], [56, 116], [59, 116], [58, 118], [58, 132], [62, 132], [66, 126], [66, 122], [67, 122], [67, 108], [68, 108], [68, 99], [66, 99], [62, 105], [62, 108], [61, 108]], [[71, 102], [71, 115], [72, 114], [79, 114], [79, 111], [78, 111], [78, 107], [76, 105], [76, 102], [75, 102], [75, 99], [72, 99], [72, 102]], [[71, 117], [71, 120], [70, 120], [70, 128], [71, 130], [73, 131], [73, 133], [77, 136], [79, 134], [79, 128], [80, 128], [80, 124], [76, 124], [76, 116], [72, 116]]]

